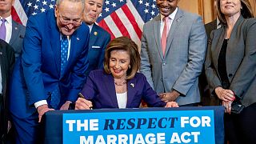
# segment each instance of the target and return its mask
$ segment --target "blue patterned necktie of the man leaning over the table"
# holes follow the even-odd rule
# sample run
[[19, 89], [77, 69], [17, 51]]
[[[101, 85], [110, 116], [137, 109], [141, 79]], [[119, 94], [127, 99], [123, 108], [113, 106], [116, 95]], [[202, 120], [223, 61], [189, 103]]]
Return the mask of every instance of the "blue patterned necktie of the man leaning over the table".
[[[66, 36], [63, 36], [61, 40], [61, 77], [64, 74], [64, 70], [67, 64], [68, 46], [69, 46], [68, 39]], [[59, 86], [56, 86], [56, 88], [51, 94], [50, 106], [52, 106], [52, 108], [54, 109], [58, 109], [60, 98], [61, 98], [61, 91], [59, 89]]]

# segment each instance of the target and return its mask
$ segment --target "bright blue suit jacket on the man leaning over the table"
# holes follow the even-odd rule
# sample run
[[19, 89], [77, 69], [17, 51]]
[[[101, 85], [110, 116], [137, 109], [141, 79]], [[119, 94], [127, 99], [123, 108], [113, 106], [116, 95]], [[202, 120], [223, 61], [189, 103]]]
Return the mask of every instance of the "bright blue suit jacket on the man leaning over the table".
[[[70, 56], [66, 70], [61, 76], [60, 32], [56, 25], [54, 10], [29, 18], [22, 62], [17, 62], [14, 68], [14, 92], [11, 98], [16, 106], [10, 107], [12, 114], [19, 118], [30, 116], [35, 111], [34, 102], [49, 99], [56, 86], [61, 90], [59, 107], [67, 100], [77, 99], [77, 94], [86, 80], [85, 72], [88, 67], [88, 26], [82, 24], [70, 38]], [[26, 85], [22, 83], [22, 68]]]

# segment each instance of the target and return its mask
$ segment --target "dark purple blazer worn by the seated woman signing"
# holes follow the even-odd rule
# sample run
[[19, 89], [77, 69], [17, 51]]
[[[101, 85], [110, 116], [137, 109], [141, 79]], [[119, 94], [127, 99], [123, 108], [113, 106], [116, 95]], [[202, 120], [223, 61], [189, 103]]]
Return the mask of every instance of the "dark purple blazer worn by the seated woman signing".
[[[118, 100], [114, 88], [114, 77], [103, 70], [90, 72], [81, 93], [86, 99], [91, 100], [94, 109], [118, 108]], [[142, 99], [148, 106], [166, 106], [146, 81], [143, 74], [137, 73], [134, 78], [127, 81], [126, 108], [138, 108]]]

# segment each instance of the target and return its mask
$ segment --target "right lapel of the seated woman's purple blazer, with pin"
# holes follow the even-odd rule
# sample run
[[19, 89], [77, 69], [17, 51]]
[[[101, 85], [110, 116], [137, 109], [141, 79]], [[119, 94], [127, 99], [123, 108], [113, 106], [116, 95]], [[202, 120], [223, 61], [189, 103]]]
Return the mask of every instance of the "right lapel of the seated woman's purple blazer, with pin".
[[136, 88], [135, 88], [135, 79], [132, 78], [127, 82], [127, 104], [126, 108], [131, 108], [134, 96], [136, 94]]

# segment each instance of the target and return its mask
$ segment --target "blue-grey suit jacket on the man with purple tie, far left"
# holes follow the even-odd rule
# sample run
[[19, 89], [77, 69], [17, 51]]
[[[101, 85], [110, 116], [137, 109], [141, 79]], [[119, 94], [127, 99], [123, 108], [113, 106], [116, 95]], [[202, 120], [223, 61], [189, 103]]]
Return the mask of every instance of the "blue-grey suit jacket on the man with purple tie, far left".
[[23, 38], [25, 35], [26, 27], [18, 22], [12, 21], [12, 32], [10, 37], [10, 46], [14, 48], [15, 58], [22, 54]]

